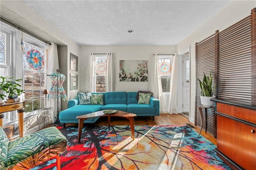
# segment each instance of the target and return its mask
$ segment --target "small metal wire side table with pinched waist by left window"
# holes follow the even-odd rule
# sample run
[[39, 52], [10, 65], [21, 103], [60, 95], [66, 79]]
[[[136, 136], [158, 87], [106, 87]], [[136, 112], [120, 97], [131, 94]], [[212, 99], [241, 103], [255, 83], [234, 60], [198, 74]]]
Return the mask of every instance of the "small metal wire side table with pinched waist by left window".
[[50, 117], [52, 112], [53, 112], [53, 107], [44, 107], [44, 108], [38, 109], [39, 115], [42, 116], [39, 122], [38, 130], [46, 127], [47, 125], [50, 125], [50, 124], [53, 125], [52, 118]]

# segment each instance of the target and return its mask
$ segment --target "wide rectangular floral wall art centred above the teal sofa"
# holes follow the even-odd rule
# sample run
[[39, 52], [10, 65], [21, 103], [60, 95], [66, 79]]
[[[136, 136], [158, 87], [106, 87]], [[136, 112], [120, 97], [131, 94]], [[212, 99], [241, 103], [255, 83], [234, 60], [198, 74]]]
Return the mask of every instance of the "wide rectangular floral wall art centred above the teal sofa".
[[119, 81], [148, 81], [148, 60], [120, 60]]

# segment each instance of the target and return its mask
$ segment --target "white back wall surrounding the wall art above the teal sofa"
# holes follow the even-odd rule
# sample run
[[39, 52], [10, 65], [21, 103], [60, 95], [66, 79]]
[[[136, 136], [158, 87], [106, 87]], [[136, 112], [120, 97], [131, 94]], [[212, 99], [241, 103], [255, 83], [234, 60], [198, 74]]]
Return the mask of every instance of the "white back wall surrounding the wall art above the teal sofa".
[[[153, 81], [153, 61], [154, 53], [158, 54], [174, 54], [176, 46], [83, 46], [81, 47], [79, 57], [79, 91], [88, 91], [86, 87], [86, 68], [90, 53], [106, 53], [112, 52], [113, 65], [115, 73], [115, 89], [114, 91], [152, 91]], [[119, 60], [148, 60], [148, 82], [120, 82], [119, 81]]]

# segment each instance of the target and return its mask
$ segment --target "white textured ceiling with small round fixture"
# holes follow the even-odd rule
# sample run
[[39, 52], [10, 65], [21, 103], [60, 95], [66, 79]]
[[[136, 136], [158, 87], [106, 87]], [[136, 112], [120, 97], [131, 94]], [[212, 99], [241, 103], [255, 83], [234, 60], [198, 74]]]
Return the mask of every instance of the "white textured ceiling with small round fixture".
[[80, 45], [177, 45], [229, 1], [23, 2]]

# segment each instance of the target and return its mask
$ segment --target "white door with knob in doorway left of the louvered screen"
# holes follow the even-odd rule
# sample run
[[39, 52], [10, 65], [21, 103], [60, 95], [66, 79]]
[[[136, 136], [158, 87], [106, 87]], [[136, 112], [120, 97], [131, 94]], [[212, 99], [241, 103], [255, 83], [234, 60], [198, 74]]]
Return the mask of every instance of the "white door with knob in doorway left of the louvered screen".
[[182, 97], [182, 113], [189, 111], [189, 57], [183, 55], [183, 97]]

